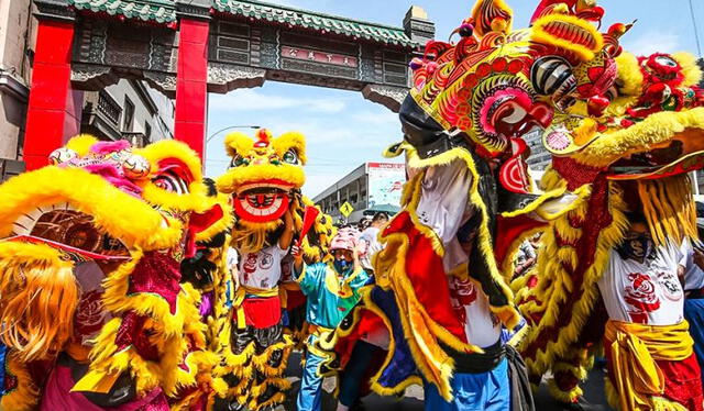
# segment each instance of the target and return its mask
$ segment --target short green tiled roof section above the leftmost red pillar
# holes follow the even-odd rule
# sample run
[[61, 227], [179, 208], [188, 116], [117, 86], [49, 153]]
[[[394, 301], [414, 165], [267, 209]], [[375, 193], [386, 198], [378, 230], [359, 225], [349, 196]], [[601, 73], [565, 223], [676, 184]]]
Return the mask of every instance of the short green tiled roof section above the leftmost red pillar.
[[176, 21], [174, 0], [68, 0], [77, 10], [124, 15], [128, 19], [170, 23]]

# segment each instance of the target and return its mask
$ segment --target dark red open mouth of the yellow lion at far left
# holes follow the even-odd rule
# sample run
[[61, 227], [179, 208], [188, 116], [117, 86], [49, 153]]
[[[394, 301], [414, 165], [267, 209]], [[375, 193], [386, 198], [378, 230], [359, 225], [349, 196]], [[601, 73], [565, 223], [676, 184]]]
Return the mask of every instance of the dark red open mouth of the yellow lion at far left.
[[68, 202], [36, 207], [12, 225], [8, 241], [45, 244], [68, 254], [74, 260], [122, 262], [130, 259], [128, 247], [105, 230], [92, 216]]

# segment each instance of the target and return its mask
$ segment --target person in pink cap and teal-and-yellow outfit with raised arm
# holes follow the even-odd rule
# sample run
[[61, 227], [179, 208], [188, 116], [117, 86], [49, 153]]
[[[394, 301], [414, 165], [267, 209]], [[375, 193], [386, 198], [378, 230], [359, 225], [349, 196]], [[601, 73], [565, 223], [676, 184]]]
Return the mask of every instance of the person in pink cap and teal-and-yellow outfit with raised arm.
[[359, 235], [355, 229], [341, 229], [332, 238], [331, 258], [326, 263], [304, 267], [300, 251], [296, 247], [292, 253], [294, 269], [301, 273], [298, 284], [307, 297], [306, 320], [311, 326], [306, 342], [306, 365], [298, 392], [298, 411], [320, 410], [322, 376], [319, 368], [329, 352], [319, 343], [331, 335], [332, 330], [360, 301], [360, 289], [370, 281], [356, 252]]

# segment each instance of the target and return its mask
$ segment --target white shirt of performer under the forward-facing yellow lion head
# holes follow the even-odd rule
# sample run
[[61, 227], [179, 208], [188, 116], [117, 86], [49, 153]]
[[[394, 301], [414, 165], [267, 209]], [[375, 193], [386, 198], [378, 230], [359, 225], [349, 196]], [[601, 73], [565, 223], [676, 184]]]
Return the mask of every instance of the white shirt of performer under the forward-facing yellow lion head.
[[243, 253], [240, 256], [240, 286], [273, 289], [282, 278], [282, 258], [288, 251], [278, 244], [263, 248], [257, 253]]

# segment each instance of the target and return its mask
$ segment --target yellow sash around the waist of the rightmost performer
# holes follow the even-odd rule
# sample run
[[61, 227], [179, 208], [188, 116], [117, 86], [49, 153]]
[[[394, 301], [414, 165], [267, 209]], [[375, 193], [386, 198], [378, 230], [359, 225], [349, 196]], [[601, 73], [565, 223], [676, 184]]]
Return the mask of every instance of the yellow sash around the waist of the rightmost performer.
[[610, 342], [614, 381], [622, 411], [660, 409], [664, 376], [656, 360], [684, 360], [692, 355], [694, 342], [689, 324], [642, 325], [608, 321], [606, 341]]

